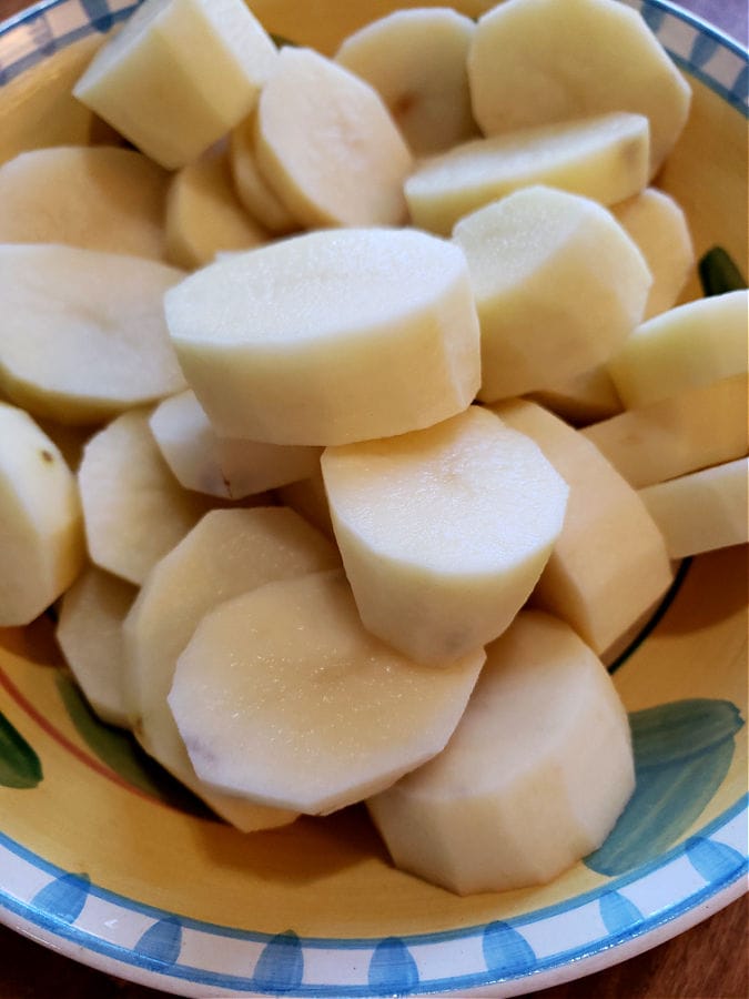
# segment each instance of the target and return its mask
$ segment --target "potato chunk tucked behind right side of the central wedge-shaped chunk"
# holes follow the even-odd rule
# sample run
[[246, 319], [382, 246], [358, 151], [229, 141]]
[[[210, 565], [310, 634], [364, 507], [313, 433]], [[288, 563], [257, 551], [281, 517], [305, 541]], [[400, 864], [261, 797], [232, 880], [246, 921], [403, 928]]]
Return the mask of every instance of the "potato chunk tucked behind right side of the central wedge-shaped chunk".
[[533, 603], [605, 656], [671, 583], [661, 533], [637, 492], [578, 431], [533, 402], [493, 408], [536, 441], [569, 485], [565, 525]]

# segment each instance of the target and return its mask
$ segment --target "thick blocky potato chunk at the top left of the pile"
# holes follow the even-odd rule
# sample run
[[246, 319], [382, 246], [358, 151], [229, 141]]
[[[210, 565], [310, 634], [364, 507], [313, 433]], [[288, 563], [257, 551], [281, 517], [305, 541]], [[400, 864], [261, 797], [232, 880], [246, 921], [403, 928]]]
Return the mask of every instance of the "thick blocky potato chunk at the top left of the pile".
[[250, 113], [276, 54], [242, 0], [146, 0], [73, 93], [174, 170]]

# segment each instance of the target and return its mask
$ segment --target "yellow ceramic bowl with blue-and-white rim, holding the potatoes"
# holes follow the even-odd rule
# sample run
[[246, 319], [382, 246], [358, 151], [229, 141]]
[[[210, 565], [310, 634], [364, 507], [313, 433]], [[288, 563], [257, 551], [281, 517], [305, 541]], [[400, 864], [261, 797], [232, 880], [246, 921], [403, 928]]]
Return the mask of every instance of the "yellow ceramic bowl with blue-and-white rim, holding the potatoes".
[[[330, 53], [391, 4], [253, 6], [272, 31]], [[632, 6], [694, 88], [659, 183], [697, 253], [722, 245], [746, 272], [747, 54], [666, 2]], [[69, 89], [129, 9], [53, 0], [0, 28], [0, 160], [87, 141]], [[201, 997], [516, 996], [652, 947], [746, 887], [746, 565], [736, 548], [685, 562], [617, 662], [638, 789], [604, 847], [545, 887], [469, 898], [395, 870], [363, 809], [253, 836], [212, 819], [92, 717], [49, 619], [0, 632], [0, 919]]]

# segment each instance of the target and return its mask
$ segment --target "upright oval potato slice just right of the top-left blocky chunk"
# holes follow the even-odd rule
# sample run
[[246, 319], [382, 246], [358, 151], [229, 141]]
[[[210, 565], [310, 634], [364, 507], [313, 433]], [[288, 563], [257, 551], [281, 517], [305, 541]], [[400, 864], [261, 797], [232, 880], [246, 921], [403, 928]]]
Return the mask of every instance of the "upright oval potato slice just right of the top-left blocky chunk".
[[405, 220], [408, 147], [377, 92], [312, 49], [279, 53], [257, 104], [255, 155], [303, 225]]

